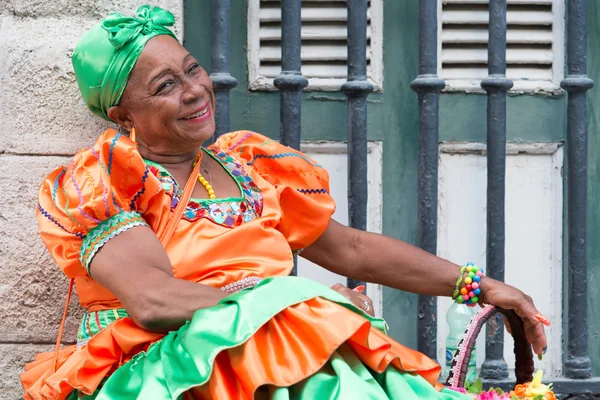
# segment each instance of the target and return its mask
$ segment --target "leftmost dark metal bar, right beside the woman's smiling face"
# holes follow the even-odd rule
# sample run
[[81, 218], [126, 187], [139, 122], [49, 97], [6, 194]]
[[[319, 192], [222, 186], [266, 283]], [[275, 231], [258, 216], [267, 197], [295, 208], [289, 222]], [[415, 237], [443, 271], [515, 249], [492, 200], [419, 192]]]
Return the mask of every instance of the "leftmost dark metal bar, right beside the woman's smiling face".
[[215, 125], [213, 138], [229, 132], [229, 91], [237, 80], [229, 74], [229, 15], [230, 0], [212, 0], [212, 48], [210, 79], [215, 90]]

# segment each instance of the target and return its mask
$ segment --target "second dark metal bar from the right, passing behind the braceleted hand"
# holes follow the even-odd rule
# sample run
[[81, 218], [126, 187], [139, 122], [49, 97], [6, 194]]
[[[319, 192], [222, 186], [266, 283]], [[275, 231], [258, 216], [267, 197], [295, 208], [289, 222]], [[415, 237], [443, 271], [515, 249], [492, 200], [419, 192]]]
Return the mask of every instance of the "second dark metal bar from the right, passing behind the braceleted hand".
[[[506, 92], [512, 87], [506, 78], [506, 0], [489, 4], [488, 77], [481, 82], [487, 92], [487, 274], [504, 281], [505, 192], [506, 192]], [[481, 377], [504, 379], [504, 325], [496, 316], [488, 324], [485, 361]]]

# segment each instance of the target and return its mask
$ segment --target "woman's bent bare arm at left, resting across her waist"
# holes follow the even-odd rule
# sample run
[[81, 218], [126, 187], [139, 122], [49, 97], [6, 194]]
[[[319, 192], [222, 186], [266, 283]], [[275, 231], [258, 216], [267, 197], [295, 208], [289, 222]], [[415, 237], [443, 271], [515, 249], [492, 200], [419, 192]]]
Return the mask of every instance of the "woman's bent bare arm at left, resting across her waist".
[[146, 226], [109, 240], [92, 260], [90, 274], [117, 296], [136, 324], [155, 332], [178, 329], [194, 311], [212, 307], [227, 295], [174, 278], [167, 253]]

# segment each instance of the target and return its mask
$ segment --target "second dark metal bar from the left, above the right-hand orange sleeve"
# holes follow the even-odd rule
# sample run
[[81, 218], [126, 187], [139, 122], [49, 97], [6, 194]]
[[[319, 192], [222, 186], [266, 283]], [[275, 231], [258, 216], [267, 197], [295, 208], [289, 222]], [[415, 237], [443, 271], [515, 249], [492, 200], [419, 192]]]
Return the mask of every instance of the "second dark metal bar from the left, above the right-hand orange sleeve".
[[[302, 2], [282, 0], [281, 2], [281, 74], [273, 84], [280, 91], [280, 134], [281, 143], [296, 150], [300, 149], [300, 116], [302, 89], [308, 86], [308, 79], [302, 76]], [[294, 257], [292, 275], [297, 274], [297, 258]]]

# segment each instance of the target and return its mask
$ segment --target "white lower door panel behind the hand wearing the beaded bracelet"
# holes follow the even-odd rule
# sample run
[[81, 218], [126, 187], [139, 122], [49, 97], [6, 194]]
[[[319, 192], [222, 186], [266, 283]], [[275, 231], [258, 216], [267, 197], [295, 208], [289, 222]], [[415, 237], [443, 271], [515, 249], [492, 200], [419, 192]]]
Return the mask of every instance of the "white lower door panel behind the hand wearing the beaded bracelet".
[[[438, 255], [486, 268], [486, 158], [480, 144], [440, 148]], [[506, 161], [506, 282], [533, 297], [551, 321], [549, 352], [536, 367], [561, 370], [563, 150], [557, 144], [509, 144]], [[438, 300], [438, 359], [444, 362], [450, 299]], [[477, 342], [478, 367], [485, 334]], [[514, 366], [505, 333], [504, 358]]]

